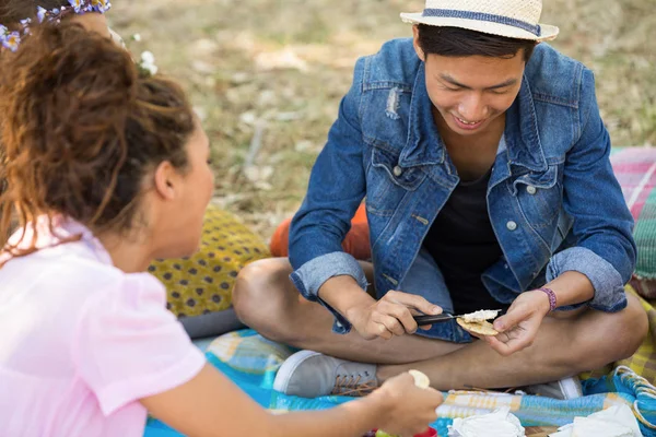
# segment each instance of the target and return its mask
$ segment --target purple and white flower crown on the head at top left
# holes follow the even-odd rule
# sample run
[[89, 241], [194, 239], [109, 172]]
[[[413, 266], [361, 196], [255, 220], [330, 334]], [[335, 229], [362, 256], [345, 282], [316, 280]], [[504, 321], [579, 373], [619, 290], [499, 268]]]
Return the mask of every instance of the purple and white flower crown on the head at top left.
[[[70, 13], [84, 14], [86, 12], [105, 13], [112, 8], [110, 0], [68, 0], [68, 7], [55, 8], [51, 10], [38, 7], [36, 9], [36, 19], [39, 23], [44, 21], [59, 23], [62, 17]], [[21, 20], [20, 29], [10, 32], [7, 26], [0, 24], [0, 44], [2, 47], [16, 51], [21, 45], [21, 38], [30, 34], [30, 24], [32, 19]]]

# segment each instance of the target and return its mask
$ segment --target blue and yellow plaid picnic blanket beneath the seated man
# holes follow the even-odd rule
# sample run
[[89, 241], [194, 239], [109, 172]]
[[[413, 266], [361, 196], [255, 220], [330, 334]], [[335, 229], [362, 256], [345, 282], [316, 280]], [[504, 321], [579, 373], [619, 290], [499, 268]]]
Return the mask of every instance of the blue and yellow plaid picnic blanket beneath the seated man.
[[[237, 383], [263, 408], [274, 411], [324, 410], [349, 402], [352, 398], [323, 397], [304, 399], [272, 390], [280, 365], [295, 350], [271, 342], [253, 330], [231, 332], [214, 340], [206, 351], [208, 361]], [[656, 436], [656, 388], [626, 366], [610, 375], [584, 382], [586, 395], [576, 400], [558, 401], [548, 398], [476, 391], [445, 393], [433, 424], [440, 436], [455, 417], [492, 412], [507, 405], [529, 426], [561, 426], [575, 416], [587, 416], [614, 404], [632, 408], [644, 436]], [[145, 437], [175, 437], [179, 434], [163, 423], [149, 420]]]

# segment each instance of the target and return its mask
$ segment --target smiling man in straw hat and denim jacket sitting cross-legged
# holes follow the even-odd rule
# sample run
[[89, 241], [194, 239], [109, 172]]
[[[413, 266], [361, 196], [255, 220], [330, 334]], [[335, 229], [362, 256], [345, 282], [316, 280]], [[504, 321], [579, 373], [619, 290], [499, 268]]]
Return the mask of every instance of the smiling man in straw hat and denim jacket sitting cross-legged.
[[[593, 73], [538, 44], [559, 32], [539, 24], [541, 9], [427, 0], [401, 14], [412, 39], [356, 63], [290, 261], [251, 264], [234, 292], [244, 321], [309, 350], [277, 389], [359, 394], [412, 363], [437, 389], [571, 398], [571, 377], [640, 345], [646, 316], [623, 291], [633, 222]], [[363, 198], [373, 263], [341, 251]], [[412, 318], [478, 309], [505, 310], [499, 335], [473, 340], [454, 320], [418, 330]]]

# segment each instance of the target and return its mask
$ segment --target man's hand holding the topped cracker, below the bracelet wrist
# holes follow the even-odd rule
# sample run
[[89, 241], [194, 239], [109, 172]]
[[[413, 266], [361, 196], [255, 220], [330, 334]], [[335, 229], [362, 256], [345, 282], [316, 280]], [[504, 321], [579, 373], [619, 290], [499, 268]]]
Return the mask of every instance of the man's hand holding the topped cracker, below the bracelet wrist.
[[549, 296], [543, 292], [523, 293], [504, 316], [494, 320], [499, 335], [483, 336], [483, 340], [503, 356], [519, 352], [532, 344], [549, 309]]

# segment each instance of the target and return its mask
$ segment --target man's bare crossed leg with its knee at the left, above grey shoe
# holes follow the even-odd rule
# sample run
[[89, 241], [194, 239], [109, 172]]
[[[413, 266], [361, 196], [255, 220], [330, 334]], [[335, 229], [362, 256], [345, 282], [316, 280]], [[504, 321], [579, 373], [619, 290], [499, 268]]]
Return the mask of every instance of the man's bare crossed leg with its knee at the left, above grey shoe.
[[[362, 264], [372, 283], [372, 264]], [[332, 315], [300, 295], [289, 279], [291, 272], [286, 258], [254, 262], [242, 270], [233, 292], [237, 316], [270, 340], [343, 359], [385, 364], [433, 358], [462, 346], [417, 335], [367, 341], [355, 332], [332, 333]]]

